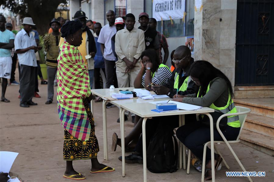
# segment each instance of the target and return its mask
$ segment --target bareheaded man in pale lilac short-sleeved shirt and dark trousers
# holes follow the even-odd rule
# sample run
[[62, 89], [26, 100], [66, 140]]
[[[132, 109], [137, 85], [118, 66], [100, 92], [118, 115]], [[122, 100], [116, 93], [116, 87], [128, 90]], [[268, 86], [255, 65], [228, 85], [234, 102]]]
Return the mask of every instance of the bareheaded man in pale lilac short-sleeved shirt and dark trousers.
[[[101, 52], [105, 60], [106, 88], [109, 88], [111, 85], [117, 88], [115, 56], [111, 47], [111, 37], [116, 34], [116, 27], [114, 25], [115, 12], [112, 10], [107, 11], [106, 17], [109, 23], [102, 27], [97, 41], [101, 43]], [[110, 103], [107, 104], [107, 108], [113, 106]]]

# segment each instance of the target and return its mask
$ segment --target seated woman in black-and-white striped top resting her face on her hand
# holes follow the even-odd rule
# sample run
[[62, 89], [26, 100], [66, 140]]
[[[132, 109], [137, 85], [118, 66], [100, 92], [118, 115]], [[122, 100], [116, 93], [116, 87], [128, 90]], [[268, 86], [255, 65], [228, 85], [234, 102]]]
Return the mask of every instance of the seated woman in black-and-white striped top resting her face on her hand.
[[[134, 80], [134, 88], [146, 88], [151, 91], [151, 82], [154, 84], [163, 84], [172, 76], [169, 67], [160, 64], [158, 54], [153, 49], [144, 50], [141, 54], [141, 69]], [[130, 134], [125, 137], [126, 151], [132, 151], [138, 142], [142, 132], [143, 118], [135, 115], [134, 128]], [[112, 136], [112, 151], [121, 146], [121, 139], [116, 133]]]

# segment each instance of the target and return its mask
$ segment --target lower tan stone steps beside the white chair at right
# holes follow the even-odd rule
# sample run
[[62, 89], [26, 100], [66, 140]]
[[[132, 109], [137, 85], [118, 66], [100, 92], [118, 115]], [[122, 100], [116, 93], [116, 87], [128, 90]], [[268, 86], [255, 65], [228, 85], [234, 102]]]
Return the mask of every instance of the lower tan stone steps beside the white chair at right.
[[240, 135], [241, 143], [274, 156], [274, 98], [233, 99], [251, 109]]

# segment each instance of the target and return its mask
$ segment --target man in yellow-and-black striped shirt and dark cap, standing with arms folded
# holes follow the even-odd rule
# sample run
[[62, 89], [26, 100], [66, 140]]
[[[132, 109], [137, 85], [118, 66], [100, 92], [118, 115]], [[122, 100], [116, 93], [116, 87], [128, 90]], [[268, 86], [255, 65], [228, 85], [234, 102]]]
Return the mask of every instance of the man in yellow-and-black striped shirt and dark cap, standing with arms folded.
[[48, 100], [45, 104], [51, 104], [54, 95], [54, 79], [57, 71], [57, 58], [59, 56], [59, 41], [61, 33], [59, 32], [60, 23], [57, 19], [52, 19], [49, 24], [52, 28], [52, 33], [44, 37], [44, 47], [46, 54], [46, 65], [48, 73]]

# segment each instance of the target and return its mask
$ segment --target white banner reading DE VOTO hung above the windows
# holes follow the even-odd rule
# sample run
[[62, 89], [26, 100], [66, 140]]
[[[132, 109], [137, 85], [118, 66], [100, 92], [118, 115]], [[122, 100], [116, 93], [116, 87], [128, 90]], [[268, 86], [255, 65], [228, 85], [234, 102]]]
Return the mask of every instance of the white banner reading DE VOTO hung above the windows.
[[185, 0], [153, 0], [152, 16], [157, 21], [182, 19]]

